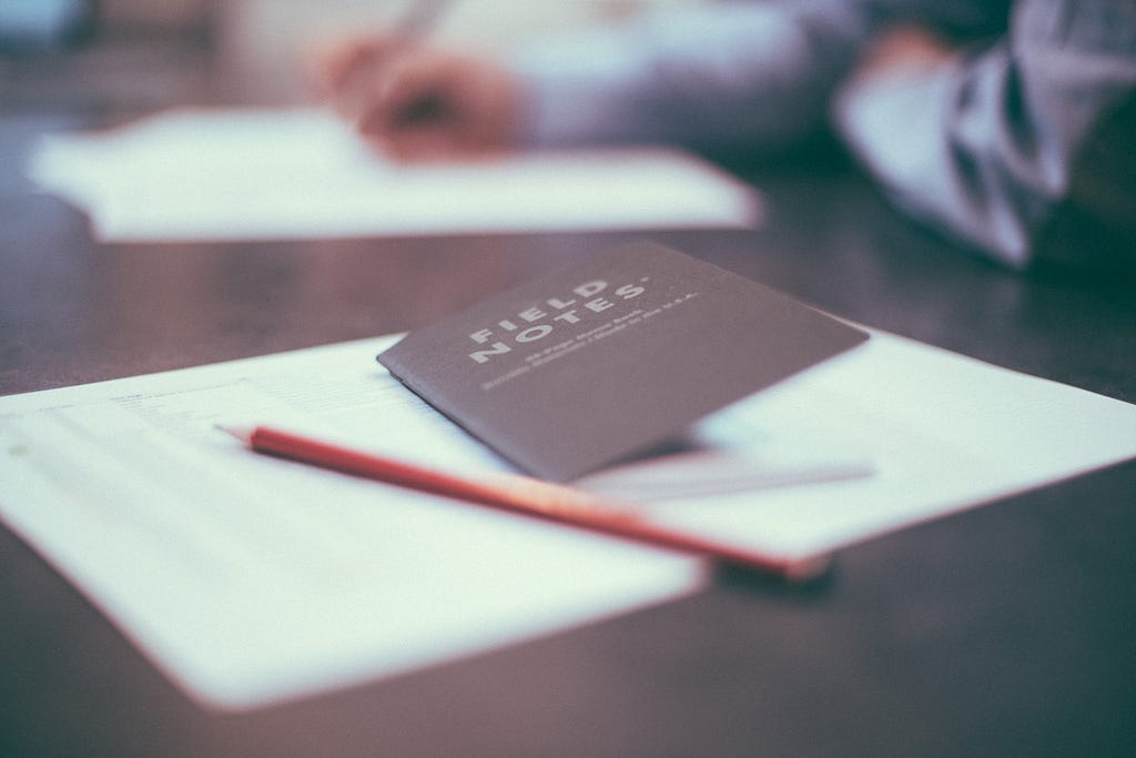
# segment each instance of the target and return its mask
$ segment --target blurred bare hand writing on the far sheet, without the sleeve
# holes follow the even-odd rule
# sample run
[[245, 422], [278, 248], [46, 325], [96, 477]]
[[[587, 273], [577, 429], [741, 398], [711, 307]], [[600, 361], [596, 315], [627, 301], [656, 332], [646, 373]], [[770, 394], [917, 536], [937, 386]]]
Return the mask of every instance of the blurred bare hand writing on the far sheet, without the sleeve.
[[400, 160], [492, 152], [515, 136], [518, 86], [492, 61], [403, 41], [325, 44], [311, 58], [318, 94]]

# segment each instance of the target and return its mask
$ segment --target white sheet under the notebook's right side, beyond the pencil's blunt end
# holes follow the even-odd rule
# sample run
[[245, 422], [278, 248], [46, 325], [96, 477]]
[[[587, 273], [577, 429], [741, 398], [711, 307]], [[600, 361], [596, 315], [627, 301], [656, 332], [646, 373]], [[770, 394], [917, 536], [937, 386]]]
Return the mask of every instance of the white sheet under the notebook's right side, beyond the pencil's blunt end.
[[870, 478], [654, 506], [676, 527], [785, 556], [1136, 458], [1136, 406], [883, 333], [730, 413], [870, 451]]

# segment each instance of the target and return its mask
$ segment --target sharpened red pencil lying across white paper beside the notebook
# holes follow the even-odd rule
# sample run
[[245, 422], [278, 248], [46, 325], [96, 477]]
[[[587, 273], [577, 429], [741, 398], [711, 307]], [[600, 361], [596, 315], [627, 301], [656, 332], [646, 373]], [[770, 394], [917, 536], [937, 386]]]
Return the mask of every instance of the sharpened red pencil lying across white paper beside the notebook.
[[257, 452], [703, 556], [788, 581], [812, 578], [828, 565], [826, 557], [780, 558], [686, 534], [651, 523], [628, 503], [613, 502], [584, 490], [528, 476], [483, 474], [478, 478], [469, 478], [267, 426], [239, 428], [218, 425], [217, 428]]

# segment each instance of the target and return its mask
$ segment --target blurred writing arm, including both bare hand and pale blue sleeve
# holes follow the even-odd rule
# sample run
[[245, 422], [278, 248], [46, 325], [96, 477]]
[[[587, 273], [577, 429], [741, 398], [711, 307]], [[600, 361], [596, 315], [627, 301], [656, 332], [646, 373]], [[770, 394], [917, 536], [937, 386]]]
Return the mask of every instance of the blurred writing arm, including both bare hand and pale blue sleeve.
[[407, 159], [511, 144], [775, 150], [827, 127], [828, 99], [874, 26], [869, 6], [665, 9], [504, 61], [365, 36], [317, 51], [314, 78], [364, 136]]

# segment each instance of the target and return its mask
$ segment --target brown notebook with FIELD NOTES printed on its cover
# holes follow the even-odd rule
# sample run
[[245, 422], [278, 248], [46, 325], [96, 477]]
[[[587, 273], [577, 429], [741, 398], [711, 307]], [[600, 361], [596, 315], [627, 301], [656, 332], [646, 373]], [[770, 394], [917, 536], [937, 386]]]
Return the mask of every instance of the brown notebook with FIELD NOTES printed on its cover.
[[568, 481], [866, 339], [747, 278], [637, 243], [414, 332], [378, 360], [521, 469]]

